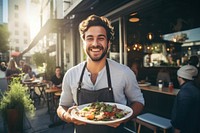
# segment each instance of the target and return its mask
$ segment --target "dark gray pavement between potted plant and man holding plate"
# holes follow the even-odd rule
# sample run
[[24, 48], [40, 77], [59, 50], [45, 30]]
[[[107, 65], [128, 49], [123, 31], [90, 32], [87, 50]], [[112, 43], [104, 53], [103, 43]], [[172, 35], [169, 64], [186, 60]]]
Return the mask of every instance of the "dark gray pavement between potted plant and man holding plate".
[[[42, 105], [43, 104], [43, 105]], [[36, 107], [36, 114], [33, 118], [26, 118], [24, 125], [24, 133], [73, 133], [73, 126], [67, 123], [59, 123], [52, 125], [50, 115], [47, 112], [46, 103]], [[3, 120], [0, 117], [0, 133], [5, 133]]]

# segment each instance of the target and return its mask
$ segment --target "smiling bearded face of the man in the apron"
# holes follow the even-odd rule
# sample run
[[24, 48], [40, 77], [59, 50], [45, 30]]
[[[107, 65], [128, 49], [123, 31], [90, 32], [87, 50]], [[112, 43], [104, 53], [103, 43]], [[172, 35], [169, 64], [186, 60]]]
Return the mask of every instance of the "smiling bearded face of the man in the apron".
[[91, 26], [85, 32], [84, 49], [92, 61], [106, 58], [110, 43], [107, 41], [106, 30], [101, 26]]

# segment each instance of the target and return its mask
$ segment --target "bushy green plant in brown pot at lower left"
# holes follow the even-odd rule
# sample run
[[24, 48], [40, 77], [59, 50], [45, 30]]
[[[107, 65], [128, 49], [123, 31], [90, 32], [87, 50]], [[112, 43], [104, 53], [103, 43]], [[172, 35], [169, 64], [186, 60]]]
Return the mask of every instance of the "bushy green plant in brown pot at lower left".
[[30, 98], [28, 88], [20, 81], [20, 78], [13, 78], [9, 89], [2, 93], [0, 100], [0, 112], [5, 129], [9, 133], [23, 132], [25, 113], [30, 116], [35, 114], [34, 103]]

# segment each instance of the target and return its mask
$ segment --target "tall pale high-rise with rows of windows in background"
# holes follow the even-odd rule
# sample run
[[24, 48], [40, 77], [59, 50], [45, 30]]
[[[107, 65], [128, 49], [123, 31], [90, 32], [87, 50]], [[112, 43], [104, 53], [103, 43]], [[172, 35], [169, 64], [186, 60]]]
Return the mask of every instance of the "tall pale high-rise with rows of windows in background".
[[[21, 53], [30, 44], [30, 27], [26, 0], [8, 0], [8, 30], [11, 56]], [[18, 54], [16, 54], [18, 56]]]

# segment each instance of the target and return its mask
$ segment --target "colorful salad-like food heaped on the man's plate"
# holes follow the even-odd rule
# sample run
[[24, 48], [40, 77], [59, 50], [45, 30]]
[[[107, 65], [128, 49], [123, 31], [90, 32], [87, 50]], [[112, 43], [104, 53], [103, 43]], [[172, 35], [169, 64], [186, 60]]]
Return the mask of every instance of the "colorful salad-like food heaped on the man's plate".
[[119, 109], [117, 106], [104, 102], [94, 102], [77, 111], [77, 115], [88, 120], [111, 121], [121, 119], [126, 116], [128, 111]]

